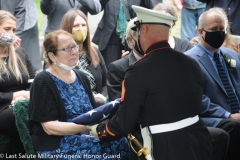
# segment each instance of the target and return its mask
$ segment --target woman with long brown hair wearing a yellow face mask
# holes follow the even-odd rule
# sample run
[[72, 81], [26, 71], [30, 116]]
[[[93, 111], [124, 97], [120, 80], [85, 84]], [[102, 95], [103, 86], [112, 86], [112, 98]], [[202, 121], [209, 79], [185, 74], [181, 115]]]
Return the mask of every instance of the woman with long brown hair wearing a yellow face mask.
[[86, 73], [94, 97], [104, 99], [105, 102], [107, 69], [101, 53], [91, 45], [90, 29], [85, 14], [77, 9], [69, 10], [63, 16], [61, 29], [73, 35], [80, 53], [77, 68]]

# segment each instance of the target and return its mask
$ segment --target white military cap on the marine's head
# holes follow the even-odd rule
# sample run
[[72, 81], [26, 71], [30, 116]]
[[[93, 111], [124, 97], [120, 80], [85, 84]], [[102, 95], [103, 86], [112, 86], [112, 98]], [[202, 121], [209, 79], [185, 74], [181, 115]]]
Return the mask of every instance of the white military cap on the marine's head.
[[135, 5], [132, 5], [132, 8], [137, 14], [137, 20], [142, 24], [162, 24], [170, 27], [172, 22], [177, 20], [177, 17], [162, 11], [155, 11]]

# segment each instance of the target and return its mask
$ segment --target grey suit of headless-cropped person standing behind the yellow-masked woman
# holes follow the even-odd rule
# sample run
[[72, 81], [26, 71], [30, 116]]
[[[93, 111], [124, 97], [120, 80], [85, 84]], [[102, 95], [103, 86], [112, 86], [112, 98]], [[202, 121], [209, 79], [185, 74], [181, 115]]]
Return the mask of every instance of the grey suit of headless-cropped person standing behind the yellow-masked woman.
[[88, 12], [98, 14], [102, 8], [99, 0], [41, 0], [40, 4], [43, 14], [48, 18], [45, 34], [59, 29], [63, 15], [71, 8], [79, 9], [85, 15]]

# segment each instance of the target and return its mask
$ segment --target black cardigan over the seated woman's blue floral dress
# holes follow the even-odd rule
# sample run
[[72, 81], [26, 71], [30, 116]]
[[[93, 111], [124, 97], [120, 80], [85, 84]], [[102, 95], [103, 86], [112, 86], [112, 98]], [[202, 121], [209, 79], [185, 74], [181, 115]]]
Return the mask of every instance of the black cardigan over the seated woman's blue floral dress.
[[[93, 108], [96, 107], [87, 76], [74, 69], [81, 80]], [[57, 86], [45, 71], [39, 73], [30, 89], [29, 120], [30, 133], [35, 150], [54, 150], [60, 146], [63, 136], [48, 135], [40, 122], [52, 120], [66, 122], [66, 110]]]

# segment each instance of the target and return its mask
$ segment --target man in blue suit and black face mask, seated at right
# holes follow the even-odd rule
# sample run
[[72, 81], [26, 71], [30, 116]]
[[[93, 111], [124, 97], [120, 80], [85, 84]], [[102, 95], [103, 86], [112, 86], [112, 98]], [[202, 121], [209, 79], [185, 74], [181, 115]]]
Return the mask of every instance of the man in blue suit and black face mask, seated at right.
[[221, 47], [226, 35], [224, 17], [214, 10], [199, 18], [200, 43], [186, 52], [200, 65], [203, 96], [200, 117], [207, 126], [230, 135], [229, 159], [240, 159], [240, 61], [238, 54]]

